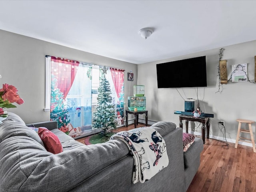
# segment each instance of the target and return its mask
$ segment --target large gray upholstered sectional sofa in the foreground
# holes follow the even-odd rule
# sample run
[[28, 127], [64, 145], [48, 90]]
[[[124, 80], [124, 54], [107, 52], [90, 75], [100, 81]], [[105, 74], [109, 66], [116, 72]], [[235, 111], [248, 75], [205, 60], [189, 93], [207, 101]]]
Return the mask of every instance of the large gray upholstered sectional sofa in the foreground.
[[[47, 152], [28, 126], [44, 126], [60, 139], [63, 152]], [[144, 183], [132, 183], [134, 159], [120, 140], [83, 145], [57, 129], [57, 122], [26, 126], [9, 113], [0, 124], [0, 192], [185, 192], [200, 165], [202, 139], [183, 152], [182, 128], [172, 122], [151, 127], [164, 138], [169, 165]]]

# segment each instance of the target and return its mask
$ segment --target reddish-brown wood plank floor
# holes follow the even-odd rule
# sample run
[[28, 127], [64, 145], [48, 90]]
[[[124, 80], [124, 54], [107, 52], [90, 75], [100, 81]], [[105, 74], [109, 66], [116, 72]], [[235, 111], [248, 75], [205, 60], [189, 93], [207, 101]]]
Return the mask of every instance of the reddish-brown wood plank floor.
[[[77, 141], [84, 144], [84, 138]], [[234, 143], [228, 144], [226, 149], [225, 143], [206, 139], [200, 167], [187, 192], [256, 192], [256, 153], [252, 147], [238, 145], [236, 149]]]

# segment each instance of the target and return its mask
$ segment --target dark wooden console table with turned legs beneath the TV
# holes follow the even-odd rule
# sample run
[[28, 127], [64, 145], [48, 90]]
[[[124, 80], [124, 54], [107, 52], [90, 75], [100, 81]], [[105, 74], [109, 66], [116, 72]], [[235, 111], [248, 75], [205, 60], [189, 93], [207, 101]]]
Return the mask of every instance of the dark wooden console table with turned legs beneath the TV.
[[180, 115], [180, 127], [183, 128], [182, 120], [185, 120], [186, 133], [188, 133], [188, 121], [196, 121], [202, 123], [202, 140], [205, 143], [205, 124], [206, 124], [206, 138], [209, 138], [210, 132], [210, 118], [209, 117], [194, 117], [190, 115]]

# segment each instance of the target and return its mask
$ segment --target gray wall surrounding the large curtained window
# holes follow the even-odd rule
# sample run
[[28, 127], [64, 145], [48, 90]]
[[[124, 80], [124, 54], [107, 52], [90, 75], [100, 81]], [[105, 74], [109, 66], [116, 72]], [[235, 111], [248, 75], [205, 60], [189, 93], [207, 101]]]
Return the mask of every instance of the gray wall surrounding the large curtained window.
[[[65, 46], [0, 30], [0, 85], [16, 86], [24, 104], [6, 109], [18, 114], [26, 123], [50, 120], [45, 108], [45, 55], [70, 58], [88, 63], [125, 70], [125, 109], [129, 93], [137, 82], [137, 65], [90, 54]], [[127, 72], [134, 73], [134, 81], [127, 81]]]

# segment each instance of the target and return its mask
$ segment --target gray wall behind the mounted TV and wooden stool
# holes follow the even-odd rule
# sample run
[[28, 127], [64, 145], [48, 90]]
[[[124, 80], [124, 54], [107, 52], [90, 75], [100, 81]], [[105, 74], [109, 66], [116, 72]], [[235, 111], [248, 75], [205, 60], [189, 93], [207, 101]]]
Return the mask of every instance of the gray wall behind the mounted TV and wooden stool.
[[[222, 60], [227, 60], [228, 78], [231, 75], [231, 65], [247, 63], [249, 79], [254, 81], [256, 41], [224, 48]], [[230, 142], [235, 142], [238, 127], [236, 119], [244, 118], [256, 121], [256, 84], [232, 82], [230, 80], [228, 84], [221, 85], [220, 92], [217, 92], [219, 49], [138, 65], [137, 83], [145, 85], [148, 118], [155, 121], [171, 121], [178, 125], [179, 117], [174, 114], [174, 110], [184, 111], [184, 100], [175, 88], [157, 88], [156, 64], [206, 55], [208, 86], [206, 88], [198, 88], [200, 106], [203, 112], [214, 114], [214, 118], [211, 118], [210, 135], [223, 140], [223, 132], [219, 129], [218, 122], [224, 120], [226, 138]], [[178, 88], [178, 91], [183, 98], [197, 99], [196, 88]], [[197, 102], [195, 103], [197, 104]], [[189, 130], [191, 128], [194, 130], [193, 123], [189, 123], [189, 126]], [[185, 125], [183, 128], [185, 128]], [[253, 124], [252, 128], [255, 138], [255, 124]], [[195, 131], [201, 133], [201, 125], [199, 123], [196, 123]]]

